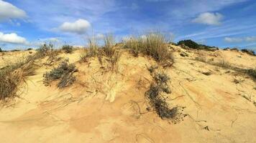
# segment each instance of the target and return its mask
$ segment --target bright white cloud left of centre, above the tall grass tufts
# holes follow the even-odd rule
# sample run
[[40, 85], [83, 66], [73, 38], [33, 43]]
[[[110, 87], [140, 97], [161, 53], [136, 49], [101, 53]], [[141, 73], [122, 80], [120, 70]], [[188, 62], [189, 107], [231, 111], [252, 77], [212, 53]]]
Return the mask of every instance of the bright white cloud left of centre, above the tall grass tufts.
[[74, 22], [64, 22], [58, 29], [63, 32], [84, 34], [89, 27], [91, 24], [87, 20], [78, 19]]

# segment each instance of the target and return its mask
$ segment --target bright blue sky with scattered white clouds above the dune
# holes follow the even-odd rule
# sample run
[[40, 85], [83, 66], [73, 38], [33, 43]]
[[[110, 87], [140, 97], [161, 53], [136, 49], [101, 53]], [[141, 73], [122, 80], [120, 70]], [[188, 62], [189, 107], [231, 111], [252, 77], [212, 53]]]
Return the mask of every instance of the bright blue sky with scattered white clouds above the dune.
[[175, 42], [256, 51], [255, 8], [255, 0], [0, 0], [0, 46], [85, 45], [91, 34], [157, 30]]

